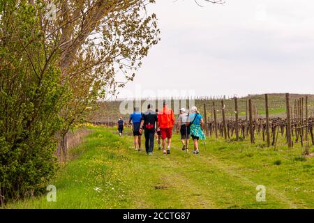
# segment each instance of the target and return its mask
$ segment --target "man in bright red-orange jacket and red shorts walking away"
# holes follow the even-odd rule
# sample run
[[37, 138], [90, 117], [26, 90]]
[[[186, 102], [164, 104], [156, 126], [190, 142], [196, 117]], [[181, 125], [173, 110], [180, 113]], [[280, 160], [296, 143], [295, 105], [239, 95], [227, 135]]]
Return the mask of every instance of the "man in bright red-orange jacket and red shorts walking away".
[[[174, 125], [173, 110], [163, 102], [163, 109], [158, 112], [158, 126], [160, 128], [161, 139], [163, 139], [163, 154], [170, 154], [170, 144], [172, 137], [172, 127]], [[165, 151], [165, 139], [167, 138], [167, 152]]]

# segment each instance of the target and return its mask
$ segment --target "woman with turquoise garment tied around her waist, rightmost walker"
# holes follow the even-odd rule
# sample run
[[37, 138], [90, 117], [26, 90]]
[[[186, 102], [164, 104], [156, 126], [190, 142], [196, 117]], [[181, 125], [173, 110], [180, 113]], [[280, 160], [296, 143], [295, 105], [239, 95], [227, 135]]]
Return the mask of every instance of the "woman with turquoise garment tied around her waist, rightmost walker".
[[206, 139], [204, 132], [202, 131], [202, 126], [204, 126], [204, 120], [197, 111], [197, 107], [193, 106], [190, 109], [191, 114], [188, 116], [188, 122], [186, 123], [190, 126], [190, 134], [193, 139], [194, 143], [194, 154], [200, 153], [198, 149], [198, 140], [199, 139]]

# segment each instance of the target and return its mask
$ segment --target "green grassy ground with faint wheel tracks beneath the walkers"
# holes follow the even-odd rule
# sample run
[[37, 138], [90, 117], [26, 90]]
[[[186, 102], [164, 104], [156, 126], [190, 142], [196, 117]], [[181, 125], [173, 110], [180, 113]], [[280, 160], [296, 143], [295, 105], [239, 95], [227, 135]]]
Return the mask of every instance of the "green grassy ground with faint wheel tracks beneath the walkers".
[[148, 156], [133, 149], [130, 130], [93, 130], [52, 180], [57, 202], [43, 194], [6, 208], [314, 208], [314, 158], [301, 148], [209, 138], [193, 155], [174, 135], [171, 155]]

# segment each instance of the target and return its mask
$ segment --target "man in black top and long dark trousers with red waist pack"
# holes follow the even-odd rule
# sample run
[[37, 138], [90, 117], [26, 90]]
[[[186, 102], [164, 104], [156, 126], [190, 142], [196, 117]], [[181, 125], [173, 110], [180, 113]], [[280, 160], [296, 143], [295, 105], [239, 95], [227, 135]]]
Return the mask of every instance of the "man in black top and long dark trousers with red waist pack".
[[158, 116], [155, 111], [152, 110], [152, 106], [147, 106], [147, 112], [142, 114], [142, 121], [140, 124], [140, 133], [145, 130], [145, 148], [148, 155], [153, 155], [154, 150], [154, 137], [155, 128], [158, 128]]

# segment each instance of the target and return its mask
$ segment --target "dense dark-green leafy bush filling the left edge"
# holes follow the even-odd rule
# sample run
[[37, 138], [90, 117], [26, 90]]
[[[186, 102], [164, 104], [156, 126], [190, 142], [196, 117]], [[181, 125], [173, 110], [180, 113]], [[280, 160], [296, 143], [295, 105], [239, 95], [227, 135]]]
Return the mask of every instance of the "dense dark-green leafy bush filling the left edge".
[[43, 41], [37, 6], [1, 1], [0, 7], [0, 190], [8, 200], [54, 176], [66, 88], [57, 56]]

